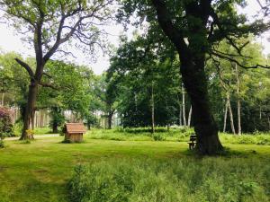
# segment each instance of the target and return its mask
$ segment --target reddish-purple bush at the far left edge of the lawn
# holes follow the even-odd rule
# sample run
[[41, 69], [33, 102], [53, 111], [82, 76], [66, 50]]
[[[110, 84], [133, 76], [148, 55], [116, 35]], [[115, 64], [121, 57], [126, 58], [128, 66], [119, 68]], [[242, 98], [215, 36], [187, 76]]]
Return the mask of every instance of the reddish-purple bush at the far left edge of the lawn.
[[9, 110], [0, 107], [0, 139], [6, 136], [14, 136], [12, 119]]

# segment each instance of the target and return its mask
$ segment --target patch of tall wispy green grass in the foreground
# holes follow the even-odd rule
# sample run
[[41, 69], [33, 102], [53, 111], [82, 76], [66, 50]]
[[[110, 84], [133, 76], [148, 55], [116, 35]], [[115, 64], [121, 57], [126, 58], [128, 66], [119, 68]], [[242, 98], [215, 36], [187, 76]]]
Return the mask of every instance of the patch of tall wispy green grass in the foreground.
[[269, 181], [256, 158], [113, 159], [76, 166], [68, 190], [72, 202], [251, 202], [269, 201]]

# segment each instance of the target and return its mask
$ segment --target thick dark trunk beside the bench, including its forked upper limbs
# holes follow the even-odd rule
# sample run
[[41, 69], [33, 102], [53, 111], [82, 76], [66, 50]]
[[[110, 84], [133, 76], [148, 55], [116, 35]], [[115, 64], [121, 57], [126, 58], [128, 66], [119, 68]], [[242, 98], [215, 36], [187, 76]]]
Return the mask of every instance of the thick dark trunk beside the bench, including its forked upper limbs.
[[196, 19], [198, 22], [187, 20], [190, 31], [188, 41], [191, 45], [184, 41], [184, 32], [175, 27], [165, 1], [152, 0], [152, 3], [156, 8], [161, 29], [175, 45], [180, 57], [180, 72], [193, 106], [193, 124], [197, 136], [195, 150], [198, 154], [219, 154], [223, 147], [220, 144], [217, 124], [211, 113], [207, 91], [207, 78], [204, 72], [205, 44], [198, 43], [198, 34], [201, 40], [207, 41], [204, 33], [211, 11], [211, 1], [201, 1], [201, 4], [186, 1], [184, 4], [187, 19]]

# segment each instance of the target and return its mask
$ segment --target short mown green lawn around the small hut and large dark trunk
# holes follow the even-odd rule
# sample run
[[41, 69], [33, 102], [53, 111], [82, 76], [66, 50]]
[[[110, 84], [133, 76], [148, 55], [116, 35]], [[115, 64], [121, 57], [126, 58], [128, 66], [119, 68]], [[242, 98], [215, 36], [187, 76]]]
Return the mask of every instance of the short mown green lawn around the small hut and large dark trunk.
[[[247, 168], [251, 168], [246, 176], [252, 182], [252, 176], [259, 173], [260, 166], [269, 168], [270, 162], [269, 145], [226, 144], [230, 149], [229, 155], [201, 159], [187, 151], [185, 142], [115, 141], [93, 139], [90, 135], [85, 136], [82, 144], [61, 144], [62, 140], [63, 136], [41, 136], [31, 144], [6, 140], [7, 146], [0, 150], [0, 202], [68, 201], [67, 181], [77, 164], [133, 160], [158, 164], [183, 159], [198, 162], [198, 165], [202, 161], [239, 162], [247, 163]], [[265, 180], [258, 179], [257, 184], [265, 194], [264, 199], [269, 201], [270, 193], [266, 189], [270, 189], [270, 172], [264, 170], [262, 179]]]

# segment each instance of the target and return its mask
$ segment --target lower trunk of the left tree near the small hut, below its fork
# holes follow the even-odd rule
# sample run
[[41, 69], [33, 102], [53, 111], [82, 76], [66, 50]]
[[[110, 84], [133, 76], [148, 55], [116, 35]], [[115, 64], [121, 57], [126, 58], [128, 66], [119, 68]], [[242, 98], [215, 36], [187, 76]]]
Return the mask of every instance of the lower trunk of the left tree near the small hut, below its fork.
[[33, 79], [31, 79], [31, 84], [29, 85], [29, 92], [28, 92], [28, 101], [23, 116], [23, 133], [22, 136], [20, 137], [20, 140], [33, 139], [33, 136], [28, 135], [26, 130], [30, 129], [31, 115], [32, 111], [35, 108], [37, 94], [38, 94], [38, 83], [35, 82]]

